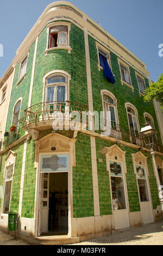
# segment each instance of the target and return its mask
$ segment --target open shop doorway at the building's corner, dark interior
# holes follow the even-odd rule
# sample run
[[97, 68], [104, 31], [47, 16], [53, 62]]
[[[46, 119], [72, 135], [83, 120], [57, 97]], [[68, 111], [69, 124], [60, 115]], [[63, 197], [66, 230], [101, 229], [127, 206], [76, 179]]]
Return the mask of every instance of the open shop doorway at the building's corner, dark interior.
[[41, 173], [40, 235], [68, 234], [68, 173]]

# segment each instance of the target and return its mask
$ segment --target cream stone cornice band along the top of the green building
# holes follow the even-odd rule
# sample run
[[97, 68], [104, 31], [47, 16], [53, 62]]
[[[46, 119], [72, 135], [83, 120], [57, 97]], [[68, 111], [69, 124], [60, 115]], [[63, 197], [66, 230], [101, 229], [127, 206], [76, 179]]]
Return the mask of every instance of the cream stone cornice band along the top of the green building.
[[[57, 9], [58, 5], [67, 5], [68, 8]], [[83, 30], [86, 28], [88, 34], [93, 36], [100, 44], [103, 44], [105, 47], [108, 47], [109, 41], [109, 50], [114, 52], [118, 57], [124, 59], [126, 63], [133, 66], [133, 68], [139, 71], [143, 76], [149, 76], [149, 72], [146, 70], [145, 63], [143, 63], [139, 58], [131, 53], [125, 46], [123, 46], [112, 35], [106, 32], [105, 29], [99, 26], [89, 16], [83, 13], [83, 11], [79, 10], [76, 6], [66, 1], [54, 2], [47, 6], [47, 8], [43, 11], [33, 28], [30, 30], [16, 51], [17, 55], [13, 60], [13, 64], [16, 65], [18, 62], [20, 62], [21, 56], [24, 54], [24, 52], [29, 50], [29, 47], [33, 44], [37, 36], [49, 23], [63, 19], [67, 22], [69, 21], [74, 23], [76, 26], [79, 26]]]

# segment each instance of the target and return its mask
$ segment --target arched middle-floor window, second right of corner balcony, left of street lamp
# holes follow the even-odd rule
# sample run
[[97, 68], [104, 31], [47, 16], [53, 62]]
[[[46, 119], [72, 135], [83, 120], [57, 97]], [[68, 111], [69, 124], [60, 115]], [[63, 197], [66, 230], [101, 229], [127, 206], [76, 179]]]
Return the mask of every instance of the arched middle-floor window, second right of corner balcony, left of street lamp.
[[139, 138], [137, 112], [133, 106], [127, 105], [126, 108], [131, 142], [137, 144], [136, 138]]

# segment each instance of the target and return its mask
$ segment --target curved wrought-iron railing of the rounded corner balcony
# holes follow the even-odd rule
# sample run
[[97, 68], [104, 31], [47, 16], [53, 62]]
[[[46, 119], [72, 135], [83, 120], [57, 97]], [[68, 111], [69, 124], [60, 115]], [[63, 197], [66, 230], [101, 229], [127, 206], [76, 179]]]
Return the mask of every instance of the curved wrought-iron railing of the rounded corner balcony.
[[[87, 111], [87, 106], [72, 101], [53, 101], [53, 102], [42, 102], [34, 106], [31, 106], [24, 110], [23, 117], [18, 121], [22, 127], [30, 124], [39, 123], [42, 121], [52, 121], [55, 119], [69, 118], [70, 114], [77, 111], [81, 114]], [[69, 118], [70, 120], [71, 118]]]

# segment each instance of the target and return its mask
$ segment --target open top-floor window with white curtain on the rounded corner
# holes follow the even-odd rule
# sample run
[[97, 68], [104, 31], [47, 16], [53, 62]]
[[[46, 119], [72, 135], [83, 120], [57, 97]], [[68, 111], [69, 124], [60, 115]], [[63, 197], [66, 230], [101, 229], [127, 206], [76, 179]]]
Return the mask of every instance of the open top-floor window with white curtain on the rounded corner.
[[67, 44], [67, 26], [54, 26], [49, 28], [49, 44], [48, 48], [68, 46]]

